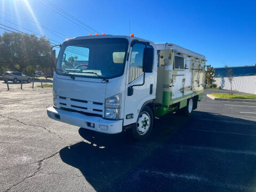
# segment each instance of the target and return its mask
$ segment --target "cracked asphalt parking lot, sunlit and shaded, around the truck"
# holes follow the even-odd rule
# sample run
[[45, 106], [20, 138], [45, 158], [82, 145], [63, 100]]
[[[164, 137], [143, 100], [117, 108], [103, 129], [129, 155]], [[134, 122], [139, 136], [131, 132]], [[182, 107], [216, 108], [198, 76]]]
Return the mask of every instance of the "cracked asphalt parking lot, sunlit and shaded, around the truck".
[[106, 135], [48, 118], [51, 88], [4, 85], [0, 191], [256, 190], [256, 103], [214, 101], [205, 90], [193, 115], [156, 119], [152, 137], [135, 142], [129, 131]]

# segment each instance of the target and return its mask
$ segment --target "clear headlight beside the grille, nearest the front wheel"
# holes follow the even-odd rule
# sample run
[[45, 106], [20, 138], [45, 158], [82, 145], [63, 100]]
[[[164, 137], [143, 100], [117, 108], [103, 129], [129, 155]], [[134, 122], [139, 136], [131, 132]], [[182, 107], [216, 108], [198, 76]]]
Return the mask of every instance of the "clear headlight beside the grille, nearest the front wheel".
[[105, 100], [105, 118], [119, 119], [121, 108], [121, 93]]

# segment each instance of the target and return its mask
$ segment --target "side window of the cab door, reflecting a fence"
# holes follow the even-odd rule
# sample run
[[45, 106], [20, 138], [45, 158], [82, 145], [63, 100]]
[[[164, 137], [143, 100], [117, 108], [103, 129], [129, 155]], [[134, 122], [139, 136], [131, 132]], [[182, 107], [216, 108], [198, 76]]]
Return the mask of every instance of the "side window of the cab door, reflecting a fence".
[[135, 43], [132, 47], [130, 70], [129, 70], [129, 83], [143, 75], [142, 62], [145, 44]]

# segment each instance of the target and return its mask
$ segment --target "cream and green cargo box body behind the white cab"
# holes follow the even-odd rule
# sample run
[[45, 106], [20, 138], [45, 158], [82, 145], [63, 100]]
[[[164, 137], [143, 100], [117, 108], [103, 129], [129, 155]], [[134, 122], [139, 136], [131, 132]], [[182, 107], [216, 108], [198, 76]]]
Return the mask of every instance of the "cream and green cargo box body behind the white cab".
[[[180, 46], [156, 44], [158, 52], [155, 102], [166, 111], [172, 105], [203, 93], [205, 57]], [[183, 59], [183, 68], [175, 68], [175, 58]], [[161, 113], [163, 115], [163, 113]]]

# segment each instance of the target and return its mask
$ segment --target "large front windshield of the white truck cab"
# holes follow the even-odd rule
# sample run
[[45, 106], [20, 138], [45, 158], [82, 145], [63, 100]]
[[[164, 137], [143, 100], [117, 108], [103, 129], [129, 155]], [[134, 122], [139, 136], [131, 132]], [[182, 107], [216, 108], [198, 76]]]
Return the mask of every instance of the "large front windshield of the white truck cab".
[[105, 79], [121, 76], [124, 73], [127, 47], [128, 41], [125, 38], [67, 41], [59, 53], [57, 69], [60, 70], [57, 73]]

